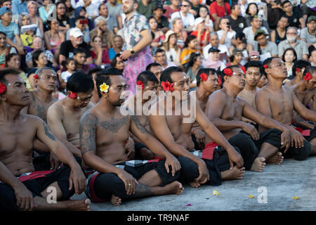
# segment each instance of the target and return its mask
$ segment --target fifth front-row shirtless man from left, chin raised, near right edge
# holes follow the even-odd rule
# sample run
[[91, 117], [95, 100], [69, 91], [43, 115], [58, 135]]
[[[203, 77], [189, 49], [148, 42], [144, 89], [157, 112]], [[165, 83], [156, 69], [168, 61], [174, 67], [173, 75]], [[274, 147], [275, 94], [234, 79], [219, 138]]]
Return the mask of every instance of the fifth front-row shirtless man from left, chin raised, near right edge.
[[[287, 86], [282, 85], [284, 79], [287, 79], [287, 67], [280, 58], [267, 58], [263, 62], [263, 67], [265, 68], [269, 82], [256, 95], [258, 112], [277, 120], [291, 132], [291, 147], [289, 150], [284, 150], [284, 156], [294, 157], [296, 160], [305, 160], [309, 155], [315, 155], [315, 129], [310, 131], [309, 136], [303, 137], [300, 132], [291, 126], [291, 122], [293, 119], [293, 110], [296, 110], [298, 115], [312, 122], [316, 122], [316, 113], [305, 108], [293, 91]], [[306, 72], [304, 71], [303, 77], [305, 76]], [[311, 75], [311, 79], [308, 82], [315, 86], [316, 76]], [[261, 128], [265, 129], [264, 127]], [[270, 154], [273, 154], [272, 149], [270, 150]], [[270, 154], [268, 153], [268, 155]]]

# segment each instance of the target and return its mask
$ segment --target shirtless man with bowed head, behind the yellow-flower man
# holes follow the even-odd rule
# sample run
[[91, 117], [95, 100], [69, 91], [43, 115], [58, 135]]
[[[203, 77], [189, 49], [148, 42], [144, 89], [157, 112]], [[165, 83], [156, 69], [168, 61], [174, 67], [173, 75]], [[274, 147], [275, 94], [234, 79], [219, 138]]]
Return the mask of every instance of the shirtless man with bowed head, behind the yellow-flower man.
[[92, 92], [92, 78], [82, 72], [74, 72], [67, 81], [67, 98], [53, 103], [47, 112], [49, 129], [77, 158], [81, 158], [78, 149], [79, 122], [81, 116], [93, 107], [90, 103]]

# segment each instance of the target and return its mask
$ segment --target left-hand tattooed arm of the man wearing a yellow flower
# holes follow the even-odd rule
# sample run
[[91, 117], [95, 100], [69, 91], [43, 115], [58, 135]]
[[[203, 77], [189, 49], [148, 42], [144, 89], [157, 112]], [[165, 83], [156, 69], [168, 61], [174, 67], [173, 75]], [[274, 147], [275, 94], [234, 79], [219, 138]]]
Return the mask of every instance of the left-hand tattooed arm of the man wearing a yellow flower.
[[96, 129], [98, 123], [98, 117], [92, 113], [87, 112], [81, 117], [79, 135], [82, 159], [92, 169], [103, 173], [117, 174], [125, 184], [126, 193], [131, 195], [136, 191], [136, 184], [138, 184], [136, 179], [125, 172], [124, 169], [115, 167], [96, 155]]

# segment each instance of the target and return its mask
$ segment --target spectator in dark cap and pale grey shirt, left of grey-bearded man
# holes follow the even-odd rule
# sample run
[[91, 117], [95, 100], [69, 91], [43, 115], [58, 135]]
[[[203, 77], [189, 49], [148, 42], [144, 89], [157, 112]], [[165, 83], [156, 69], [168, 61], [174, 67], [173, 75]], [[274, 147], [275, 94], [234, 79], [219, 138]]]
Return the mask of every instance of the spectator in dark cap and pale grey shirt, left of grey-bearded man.
[[[254, 44], [254, 50], [258, 51], [261, 55], [265, 55], [265, 58], [277, 57], [277, 44], [268, 41], [267, 36], [268, 34], [265, 34], [264, 30], [256, 31], [254, 37], [256, 40], [256, 44]], [[261, 58], [263, 57], [261, 56]]]

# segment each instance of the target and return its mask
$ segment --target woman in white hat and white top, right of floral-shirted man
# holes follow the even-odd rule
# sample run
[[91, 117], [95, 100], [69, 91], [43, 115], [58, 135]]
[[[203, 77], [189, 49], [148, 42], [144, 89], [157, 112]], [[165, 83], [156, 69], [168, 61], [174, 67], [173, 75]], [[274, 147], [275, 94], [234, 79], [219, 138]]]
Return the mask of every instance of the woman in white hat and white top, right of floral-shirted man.
[[169, 30], [166, 32], [166, 38], [164, 39], [164, 46], [162, 49], [166, 51], [167, 60], [175, 63], [176, 65], [181, 65], [180, 63], [180, 53], [181, 50], [177, 45], [178, 37], [175, 32]]

